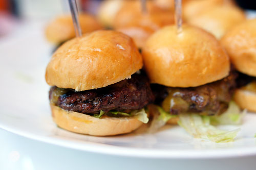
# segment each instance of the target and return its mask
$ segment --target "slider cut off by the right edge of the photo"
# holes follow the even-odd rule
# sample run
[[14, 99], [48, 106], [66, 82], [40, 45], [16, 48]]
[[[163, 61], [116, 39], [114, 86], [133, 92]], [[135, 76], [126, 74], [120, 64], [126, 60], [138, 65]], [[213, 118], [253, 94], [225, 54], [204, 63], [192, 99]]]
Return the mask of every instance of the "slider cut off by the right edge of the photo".
[[221, 40], [231, 62], [240, 72], [234, 100], [256, 112], [256, 19], [233, 27]]

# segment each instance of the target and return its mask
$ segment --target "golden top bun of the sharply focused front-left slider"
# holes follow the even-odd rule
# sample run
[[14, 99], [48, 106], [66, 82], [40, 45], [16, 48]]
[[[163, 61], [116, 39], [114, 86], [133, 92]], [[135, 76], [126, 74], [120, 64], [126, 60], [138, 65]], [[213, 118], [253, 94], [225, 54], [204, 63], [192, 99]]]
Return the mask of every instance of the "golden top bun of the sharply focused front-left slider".
[[95, 31], [61, 45], [46, 69], [46, 82], [76, 91], [117, 83], [142, 68], [133, 40], [116, 31]]

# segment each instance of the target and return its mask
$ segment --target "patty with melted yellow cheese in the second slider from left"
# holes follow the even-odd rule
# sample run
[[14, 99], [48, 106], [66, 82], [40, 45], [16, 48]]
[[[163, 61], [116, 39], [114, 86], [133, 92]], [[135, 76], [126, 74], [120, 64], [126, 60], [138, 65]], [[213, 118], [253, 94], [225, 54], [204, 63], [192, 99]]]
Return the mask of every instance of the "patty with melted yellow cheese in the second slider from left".
[[196, 112], [202, 115], [219, 115], [228, 108], [234, 89], [237, 73], [198, 87], [172, 88], [152, 85], [156, 103], [170, 114]]

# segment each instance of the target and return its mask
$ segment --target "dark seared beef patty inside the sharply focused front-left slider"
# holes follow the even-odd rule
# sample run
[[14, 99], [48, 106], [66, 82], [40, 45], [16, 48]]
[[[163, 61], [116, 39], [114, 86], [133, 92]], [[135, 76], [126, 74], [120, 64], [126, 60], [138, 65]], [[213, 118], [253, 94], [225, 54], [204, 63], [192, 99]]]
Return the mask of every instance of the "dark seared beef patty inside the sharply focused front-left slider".
[[108, 112], [142, 109], [154, 101], [150, 83], [145, 76], [139, 74], [99, 89], [76, 92], [54, 86], [49, 93], [51, 102], [60, 108], [89, 114], [96, 114], [100, 110]]

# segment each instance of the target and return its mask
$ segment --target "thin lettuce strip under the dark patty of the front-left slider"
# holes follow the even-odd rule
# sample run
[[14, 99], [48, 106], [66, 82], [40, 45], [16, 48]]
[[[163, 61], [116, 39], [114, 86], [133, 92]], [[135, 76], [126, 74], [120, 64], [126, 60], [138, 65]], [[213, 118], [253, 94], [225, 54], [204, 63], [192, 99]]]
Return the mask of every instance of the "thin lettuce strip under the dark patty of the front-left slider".
[[[109, 115], [113, 114], [113, 115], [119, 115], [119, 116], [132, 116], [132, 117], [140, 120], [140, 122], [143, 122], [144, 124], [146, 124], [148, 122], [147, 113], [145, 112], [144, 108], [140, 109], [140, 110], [134, 110], [130, 113], [119, 112], [119, 111], [109, 111], [108, 113], [110, 113]], [[100, 110], [100, 113], [95, 114], [94, 117], [101, 118], [104, 114], [105, 114], [105, 112]]]

